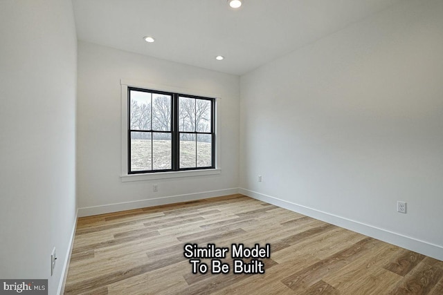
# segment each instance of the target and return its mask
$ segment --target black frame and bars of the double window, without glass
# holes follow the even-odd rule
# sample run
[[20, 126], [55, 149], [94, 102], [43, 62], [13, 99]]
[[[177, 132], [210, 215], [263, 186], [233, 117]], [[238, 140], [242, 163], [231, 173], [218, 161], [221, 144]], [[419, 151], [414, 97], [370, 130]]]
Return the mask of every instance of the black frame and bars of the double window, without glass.
[[[140, 130], [140, 129], [131, 129], [131, 91], [140, 91], [145, 93], [154, 93], [160, 95], [170, 95], [171, 97], [171, 129], [170, 131], [154, 131], [154, 130]], [[210, 101], [210, 132], [199, 132], [197, 130], [191, 131], [179, 131], [179, 97], [187, 97], [191, 99], [204, 99]], [[152, 117], [151, 117], [152, 120]], [[152, 124], [151, 124], [152, 128]], [[197, 128], [197, 126], [196, 126]], [[158, 170], [131, 170], [131, 133], [132, 132], [147, 132], [151, 133], [151, 136], [154, 133], [170, 133], [171, 134], [171, 169], [158, 169]], [[197, 144], [197, 135], [206, 134], [212, 136], [211, 141], [211, 166], [198, 167], [197, 166], [197, 149], [196, 149], [196, 166], [188, 167], [188, 168], [180, 168], [180, 134], [188, 133], [195, 134], [196, 136], [196, 144]], [[153, 137], [151, 137], [153, 138]], [[153, 139], [151, 139], [153, 140]], [[175, 172], [175, 171], [195, 171], [195, 170], [206, 170], [206, 169], [215, 169], [215, 97], [202, 97], [199, 95], [189, 95], [182, 93], [172, 93], [168, 91], [158, 91], [154, 89], [147, 88], [139, 88], [128, 86], [127, 88], [127, 173], [128, 174], [150, 174], [150, 173], [159, 173], [159, 172]], [[152, 149], [152, 147], [151, 147]]]

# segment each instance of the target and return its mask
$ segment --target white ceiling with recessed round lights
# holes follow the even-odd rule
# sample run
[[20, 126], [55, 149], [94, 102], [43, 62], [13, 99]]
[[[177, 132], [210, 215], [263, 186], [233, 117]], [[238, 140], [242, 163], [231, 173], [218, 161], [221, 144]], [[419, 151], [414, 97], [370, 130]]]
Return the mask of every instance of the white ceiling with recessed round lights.
[[242, 75], [399, 1], [244, 0], [233, 10], [226, 0], [73, 0], [73, 7], [80, 40]]

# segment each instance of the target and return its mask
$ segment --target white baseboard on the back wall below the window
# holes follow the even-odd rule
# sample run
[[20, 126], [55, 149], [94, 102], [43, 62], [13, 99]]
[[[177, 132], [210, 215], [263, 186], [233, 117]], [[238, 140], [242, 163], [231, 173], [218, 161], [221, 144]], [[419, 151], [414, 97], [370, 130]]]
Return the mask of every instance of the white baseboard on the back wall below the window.
[[178, 202], [188, 202], [205, 198], [233, 195], [238, 193], [238, 188], [220, 189], [217, 191], [204, 191], [201, 193], [188, 193], [186, 195], [169, 196], [147, 200], [138, 200], [132, 202], [122, 202], [117, 204], [106, 204], [102, 206], [84, 207], [78, 209], [78, 217], [93, 216], [111, 212], [125, 211], [131, 209], [140, 209], [145, 207], [158, 206], [163, 204], [173, 204]]

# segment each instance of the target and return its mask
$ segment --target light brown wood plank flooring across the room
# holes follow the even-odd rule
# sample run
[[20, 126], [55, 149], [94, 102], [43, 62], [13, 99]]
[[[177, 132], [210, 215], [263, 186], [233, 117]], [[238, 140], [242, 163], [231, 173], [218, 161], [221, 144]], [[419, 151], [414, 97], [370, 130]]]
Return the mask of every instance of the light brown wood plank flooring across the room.
[[[230, 272], [192, 274], [186, 243]], [[233, 274], [233, 243], [269, 243], [265, 273]], [[443, 294], [443, 262], [233, 195], [79, 218], [64, 294]]]

